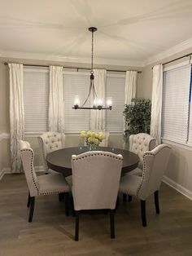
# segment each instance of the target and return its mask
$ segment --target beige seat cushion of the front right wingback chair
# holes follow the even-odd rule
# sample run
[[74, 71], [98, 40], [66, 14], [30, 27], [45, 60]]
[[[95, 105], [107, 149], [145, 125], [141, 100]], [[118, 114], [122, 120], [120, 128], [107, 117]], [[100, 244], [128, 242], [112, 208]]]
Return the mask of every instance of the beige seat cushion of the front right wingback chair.
[[135, 174], [127, 174], [120, 179], [119, 192], [137, 196], [137, 189], [142, 183], [142, 177]]

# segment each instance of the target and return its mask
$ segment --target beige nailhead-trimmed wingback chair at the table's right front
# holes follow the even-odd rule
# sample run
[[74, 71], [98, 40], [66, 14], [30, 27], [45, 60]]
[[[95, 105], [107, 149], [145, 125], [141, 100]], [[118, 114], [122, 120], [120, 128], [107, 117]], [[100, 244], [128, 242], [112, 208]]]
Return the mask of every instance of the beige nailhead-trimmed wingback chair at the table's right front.
[[142, 225], [146, 227], [146, 198], [155, 193], [155, 209], [159, 214], [158, 191], [163, 179], [164, 171], [168, 166], [171, 147], [165, 144], [157, 146], [152, 151], [147, 151], [143, 156], [142, 177], [127, 174], [120, 179], [119, 191], [136, 196], [141, 200]]

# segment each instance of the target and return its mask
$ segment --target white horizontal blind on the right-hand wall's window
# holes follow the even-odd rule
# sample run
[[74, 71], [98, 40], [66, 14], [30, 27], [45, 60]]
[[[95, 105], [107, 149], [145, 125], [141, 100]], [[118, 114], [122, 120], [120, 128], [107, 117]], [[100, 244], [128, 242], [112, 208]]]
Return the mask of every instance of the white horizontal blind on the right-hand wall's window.
[[190, 92], [190, 64], [164, 72], [162, 136], [186, 143]]

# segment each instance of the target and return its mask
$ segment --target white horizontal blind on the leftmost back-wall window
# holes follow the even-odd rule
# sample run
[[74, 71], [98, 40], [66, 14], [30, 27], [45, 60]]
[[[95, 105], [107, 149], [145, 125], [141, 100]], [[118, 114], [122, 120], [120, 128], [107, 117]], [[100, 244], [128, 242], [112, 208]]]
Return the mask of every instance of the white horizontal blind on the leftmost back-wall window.
[[24, 68], [24, 126], [26, 134], [48, 130], [49, 73]]

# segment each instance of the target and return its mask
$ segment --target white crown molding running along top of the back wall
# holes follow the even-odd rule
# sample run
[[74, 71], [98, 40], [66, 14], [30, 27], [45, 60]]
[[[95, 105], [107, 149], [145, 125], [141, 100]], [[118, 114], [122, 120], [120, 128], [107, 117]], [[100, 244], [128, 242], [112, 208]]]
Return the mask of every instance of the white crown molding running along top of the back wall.
[[[43, 61], [59, 61], [68, 63], [81, 63], [89, 64], [90, 58], [80, 58], [76, 56], [68, 57], [63, 55], [47, 55], [39, 53], [28, 53], [19, 51], [2, 51], [0, 52], [2, 58], [14, 58], [14, 59], [25, 59], [25, 60], [43, 60]], [[108, 64], [108, 65], [118, 65], [118, 66], [132, 66], [132, 67], [142, 67], [142, 62], [137, 60], [114, 60], [114, 59], [101, 59], [95, 58], [94, 64]]]

